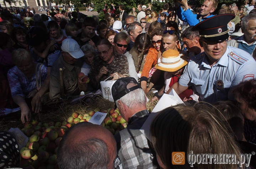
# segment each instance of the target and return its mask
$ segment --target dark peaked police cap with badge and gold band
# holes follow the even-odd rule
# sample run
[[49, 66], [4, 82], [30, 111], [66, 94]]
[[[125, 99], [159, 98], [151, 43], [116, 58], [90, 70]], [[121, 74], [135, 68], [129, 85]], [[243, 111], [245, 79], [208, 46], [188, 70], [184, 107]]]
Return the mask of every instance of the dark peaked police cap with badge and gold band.
[[229, 37], [228, 23], [234, 18], [235, 15], [229, 13], [215, 15], [196, 24], [192, 31], [198, 30], [200, 37], [207, 41], [225, 40]]

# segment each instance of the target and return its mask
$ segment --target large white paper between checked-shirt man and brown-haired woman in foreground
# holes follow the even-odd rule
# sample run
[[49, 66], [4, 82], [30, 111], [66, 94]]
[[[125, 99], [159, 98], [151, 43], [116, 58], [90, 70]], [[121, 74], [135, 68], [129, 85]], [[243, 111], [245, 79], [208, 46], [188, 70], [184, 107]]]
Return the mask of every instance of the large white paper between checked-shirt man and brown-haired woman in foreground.
[[149, 130], [153, 118], [158, 114], [159, 111], [164, 110], [167, 107], [175, 106], [177, 104], [182, 103], [183, 101], [180, 99], [180, 97], [177, 95], [174, 89], [172, 89], [169, 94], [163, 94], [158, 104], [156, 104], [155, 108], [150, 113], [149, 117], [147, 118], [143, 126], [140, 128], [140, 132], [142, 132], [146, 136], [146, 138], [152, 142]]

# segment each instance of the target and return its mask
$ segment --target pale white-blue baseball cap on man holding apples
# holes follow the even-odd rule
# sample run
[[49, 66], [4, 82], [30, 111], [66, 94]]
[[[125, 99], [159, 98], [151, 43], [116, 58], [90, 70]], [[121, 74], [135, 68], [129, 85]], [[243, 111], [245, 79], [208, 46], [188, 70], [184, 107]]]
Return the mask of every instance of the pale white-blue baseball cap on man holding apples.
[[62, 51], [68, 52], [73, 58], [79, 59], [84, 56], [84, 52], [80, 49], [78, 42], [72, 38], [62, 41]]

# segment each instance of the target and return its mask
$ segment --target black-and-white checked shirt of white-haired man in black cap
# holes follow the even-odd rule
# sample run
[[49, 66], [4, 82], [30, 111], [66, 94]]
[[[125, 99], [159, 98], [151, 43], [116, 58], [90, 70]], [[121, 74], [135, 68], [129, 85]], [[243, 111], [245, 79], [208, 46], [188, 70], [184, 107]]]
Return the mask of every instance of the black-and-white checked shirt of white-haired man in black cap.
[[118, 158], [124, 169], [158, 168], [155, 152], [150, 147], [149, 140], [139, 130], [148, 116], [148, 110], [137, 112], [130, 118], [127, 128], [114, 136], [117, 142]]

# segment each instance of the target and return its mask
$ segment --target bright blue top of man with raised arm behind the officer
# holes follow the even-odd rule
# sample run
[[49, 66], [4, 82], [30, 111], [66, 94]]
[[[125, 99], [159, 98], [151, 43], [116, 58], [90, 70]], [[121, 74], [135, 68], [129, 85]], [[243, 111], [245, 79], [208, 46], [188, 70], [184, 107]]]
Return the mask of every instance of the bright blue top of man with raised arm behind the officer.
[[[200, 17], [201, 17], [200, 14], [193, 14], [193, 12], [191, 10], [183, 11], [181, 6], [177, 10], [177, 16], [181, 21], [187, 22], [190, 26], [194, 26], [194, 25], [198, 24], [200, 21]], [[207, 18], [210, 18], [213, 16], [214, 15], [212, 14], [210, 16], [204, 17], [204, 18], [202, 18], [202, 21], [204, 19], [207, 19]]]

